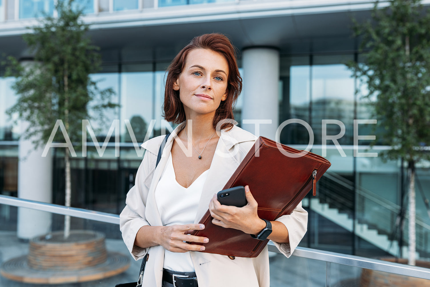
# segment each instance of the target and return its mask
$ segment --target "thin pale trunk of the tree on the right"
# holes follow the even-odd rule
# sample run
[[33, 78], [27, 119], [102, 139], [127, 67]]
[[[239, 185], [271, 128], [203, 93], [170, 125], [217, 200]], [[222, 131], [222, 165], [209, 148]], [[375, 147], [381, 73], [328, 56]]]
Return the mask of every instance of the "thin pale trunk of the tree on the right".
[[409, 258], [408, 264], [415, 265], [415, 162], [409, 161]]

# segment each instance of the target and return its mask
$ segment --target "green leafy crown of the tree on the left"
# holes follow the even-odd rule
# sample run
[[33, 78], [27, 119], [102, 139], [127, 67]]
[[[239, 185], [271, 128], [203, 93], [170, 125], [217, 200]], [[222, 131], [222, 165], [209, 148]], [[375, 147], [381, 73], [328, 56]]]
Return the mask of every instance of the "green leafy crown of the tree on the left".
[[[34, 62], [22, 65], [8, 57], [6, 76], [16, 77], [13, 89], [17, 102], [7, 113], [18, 113], [30, 125], [26, 138], [40, 137], [37, 144], [49, 139], [57, 119], [68, 128], [72, 142], [81, 142], [83, 119], [100, 119], [105, 109], [116, 108], [111, 102], [112, 89], [100, 90], [90, 74], [100, 71], [99, 48], [87, 35], [89, 26], [80, 18], [82, 10], [70, 9], [73, 0], [58, 1], [58, 18], [45, 17], [31, 33], [23, 35], [34, 53]], [[68, 124], [66, 124], [68, 123]], [[105, 124], [105, 123], [104, 123]], [[58, 133], [60, 142], [64, 142]]]

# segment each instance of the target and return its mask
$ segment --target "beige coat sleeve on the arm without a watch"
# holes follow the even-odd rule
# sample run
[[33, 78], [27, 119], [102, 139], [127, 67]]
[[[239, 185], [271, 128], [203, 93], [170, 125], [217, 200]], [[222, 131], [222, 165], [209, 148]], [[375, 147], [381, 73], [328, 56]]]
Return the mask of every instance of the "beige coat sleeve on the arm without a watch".
[[143, 258], [149, 249], [138, 247], [134, 242], [139, 229], [142, 226], [150, 225], [145, 217], [145, 205], [154, 174], [155, 162], [153, 163], [153, 160], [151, 152], [146, 151], [136, 173], [135, 185], [127, 193], [126, 207], [120, 214], [120, 230], [123, 240], [135, 260]]

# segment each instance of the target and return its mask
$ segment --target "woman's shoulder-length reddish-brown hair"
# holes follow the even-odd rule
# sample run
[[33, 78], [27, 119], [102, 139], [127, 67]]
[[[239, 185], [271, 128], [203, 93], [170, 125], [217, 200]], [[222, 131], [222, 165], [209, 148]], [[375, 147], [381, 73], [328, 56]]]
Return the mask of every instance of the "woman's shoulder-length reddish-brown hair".
[[[233, 108], [242, 91], [242, 77], [240, 77], [239, 68], [237, 67], [235, 48], [226, 36], [219, 33], [204, 34], [194, 37], [194, 39], [176, 55], [175, 59], [173, 59], [172, 63], [167, 68], [168, 74], [164, 92], [163, 116], [167, 121], [173, 123], [181, 123], [185, 120], [184, 106], [179, 99], [179, 91], [173, 89], [173, 83], [184, 70], [188, 53], [194, 49], [209, 49], [218, 52], [224, 56], [228, 64], [227, 98], [221, 101], [219, 107], [215, 111], [213, 127], [216, 128], [220, 120], [234, 119]], [[221, 129], [228, 128], [228, 130], [230, 130], [232, 127], [232, 123], [224, 123], [221, 125]]]

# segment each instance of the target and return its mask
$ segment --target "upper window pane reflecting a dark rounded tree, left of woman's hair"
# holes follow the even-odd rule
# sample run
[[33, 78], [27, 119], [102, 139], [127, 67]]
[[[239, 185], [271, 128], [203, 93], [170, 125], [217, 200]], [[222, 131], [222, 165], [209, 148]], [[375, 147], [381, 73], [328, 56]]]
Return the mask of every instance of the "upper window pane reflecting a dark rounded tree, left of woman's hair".
[[151, 64], [124, 65], [122, 67], [120, 123], [122, 142], [132, 142], [124, 120], [129, 120], [136, 141], [140, 145], [144, 141], [151, 120], [154, 118], [154, 73], [151, 69]]

